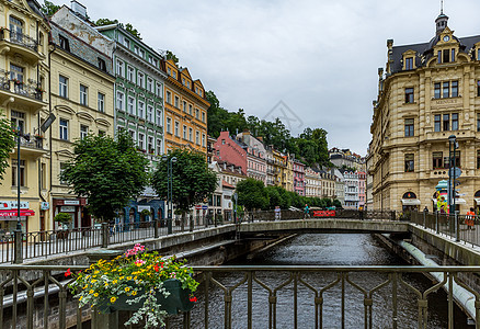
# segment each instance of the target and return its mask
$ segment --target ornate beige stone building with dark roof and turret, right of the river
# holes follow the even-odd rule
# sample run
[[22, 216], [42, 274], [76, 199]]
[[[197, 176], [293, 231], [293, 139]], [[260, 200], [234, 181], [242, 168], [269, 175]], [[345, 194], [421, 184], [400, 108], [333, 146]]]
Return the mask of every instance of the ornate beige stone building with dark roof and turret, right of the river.
[[442, 12], [434, 37], [423, 44], [387, 41], [370, 127], [375, 209], [432, 211], [435, 186], [448, 179], [450, 135], [462, 171], [457, 208], [465, 214], [479, 206], [480, 35], [457, 37], [447, 22]]

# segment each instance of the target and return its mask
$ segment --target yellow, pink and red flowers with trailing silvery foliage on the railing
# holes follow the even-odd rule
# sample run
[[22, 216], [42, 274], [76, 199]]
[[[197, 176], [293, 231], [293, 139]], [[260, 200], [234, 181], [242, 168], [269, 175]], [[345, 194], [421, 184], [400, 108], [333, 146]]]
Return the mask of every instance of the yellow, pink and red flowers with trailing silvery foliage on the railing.
[[[65, 275], [75, 274], [67, 271]], [[158, 300], [159, 293], [164, 298], [170, 295], [164, 282], [175, 279], [182, 290], [193, 293], [198, 283], [192, 275], [193, 270], [185, 266], [185, 261], [175, 257], [162, 258], [157, 251], [146, 252], [145, 246], [137, 243], [112, 261], [100, 260], [77, 274], [70, 288], [79, 299], [79, 307], [85, 304], [99, 309], [115, 307], [115, 303], [126, 298], [126, 304], [138, 305], [138, 308], [125, 326], [145, 318], [145, 328], [149, 328], [162, 326], [167, 317], [168, 313]], [[196, 297], [191, 295], [190, 302], [196, 302]]]

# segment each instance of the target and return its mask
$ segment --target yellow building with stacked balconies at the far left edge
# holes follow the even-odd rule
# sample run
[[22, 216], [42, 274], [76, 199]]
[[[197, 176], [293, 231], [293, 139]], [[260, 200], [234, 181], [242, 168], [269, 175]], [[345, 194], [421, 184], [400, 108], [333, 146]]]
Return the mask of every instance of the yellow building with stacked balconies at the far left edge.
[[[39, 126], [48, 116], [49, 26], [36, 1], [0, 1], [0, 104], [2, 115], [20, 129], [16, 148], [0, 185], [0, 229], [16, 226], [18, 184], [23, 230], [46, 228], [49, 216], [48, 141]], [[47, 132], [48, 133], [48, 132]], [[30, 136], [28, 136], [30, 134]], [[42, 136], [42, 137], [41, 137]], [[18, 182], [20, 164], [20, 182]]]

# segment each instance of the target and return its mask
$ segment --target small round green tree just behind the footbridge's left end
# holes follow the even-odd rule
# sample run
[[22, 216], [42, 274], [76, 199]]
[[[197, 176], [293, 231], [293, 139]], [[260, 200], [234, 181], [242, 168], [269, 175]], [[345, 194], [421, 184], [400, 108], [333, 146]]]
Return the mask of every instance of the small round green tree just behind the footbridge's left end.
[[248, 178], [237, 184], [238, 204], [248, 211], [268, 206], [268, 194], [262, 181]]

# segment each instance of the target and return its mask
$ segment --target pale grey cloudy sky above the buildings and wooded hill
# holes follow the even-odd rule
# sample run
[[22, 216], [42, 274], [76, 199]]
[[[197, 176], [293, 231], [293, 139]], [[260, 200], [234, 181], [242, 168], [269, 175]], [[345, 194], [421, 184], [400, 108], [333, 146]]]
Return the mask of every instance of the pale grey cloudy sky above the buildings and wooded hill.
[[[361, 155], [387, 39], [430, 41], [441, 7], [441, 0], [79, 2], [92, 20], [130, 22], [152, 48], [172, 50], [225, 109], [287, 117], [295, 136], [322, 127], [329, 147]], [[446, 0], [444, 12], [457, 36], [480, 34], [479, 0]]]

